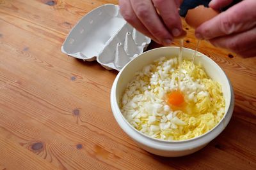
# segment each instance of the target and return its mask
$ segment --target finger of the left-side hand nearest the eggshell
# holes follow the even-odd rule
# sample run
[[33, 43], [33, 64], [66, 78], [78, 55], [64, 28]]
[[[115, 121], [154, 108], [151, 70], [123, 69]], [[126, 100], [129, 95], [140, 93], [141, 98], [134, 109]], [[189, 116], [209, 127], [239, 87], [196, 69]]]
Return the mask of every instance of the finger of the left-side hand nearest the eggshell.
[[163, 18], [168, 31], [172, 32], [172, 35], [175, 37], [180, 36], [182, 26], [176, 2], [173, 0], [152, 0], [152, 2], [159, 11], [161, 18]]

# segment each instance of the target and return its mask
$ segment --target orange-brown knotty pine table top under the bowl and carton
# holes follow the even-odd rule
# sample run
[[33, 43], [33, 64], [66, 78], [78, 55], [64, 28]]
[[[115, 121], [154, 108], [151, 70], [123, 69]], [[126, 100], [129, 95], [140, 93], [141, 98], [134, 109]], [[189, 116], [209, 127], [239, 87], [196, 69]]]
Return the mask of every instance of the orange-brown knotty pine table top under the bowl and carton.
[[[60, 50], [77, 20], [106, 3], [118, 2], [0, 0], [0, 169], [256, 169], [256, 59], [206, 41], [199, 51], [227, 73], [236, 96], [225, 131], [199, 152], [165, 158], [120, 129], [109, 103], [118, 72]], [[195, 49], [183, 26], [184, 46]]]

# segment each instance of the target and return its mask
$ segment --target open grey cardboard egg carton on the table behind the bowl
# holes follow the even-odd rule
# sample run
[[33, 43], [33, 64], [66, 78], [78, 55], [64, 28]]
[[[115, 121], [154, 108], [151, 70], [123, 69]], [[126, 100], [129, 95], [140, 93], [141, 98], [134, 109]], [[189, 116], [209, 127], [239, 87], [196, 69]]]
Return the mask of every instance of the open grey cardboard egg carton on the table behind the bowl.
[[77, 22], [61, 51], [84, 61], [97, 60], [106, 69], [120, 71], [143, 53], [150, 41], [124, 20], [119, 6], [104, 4]]

